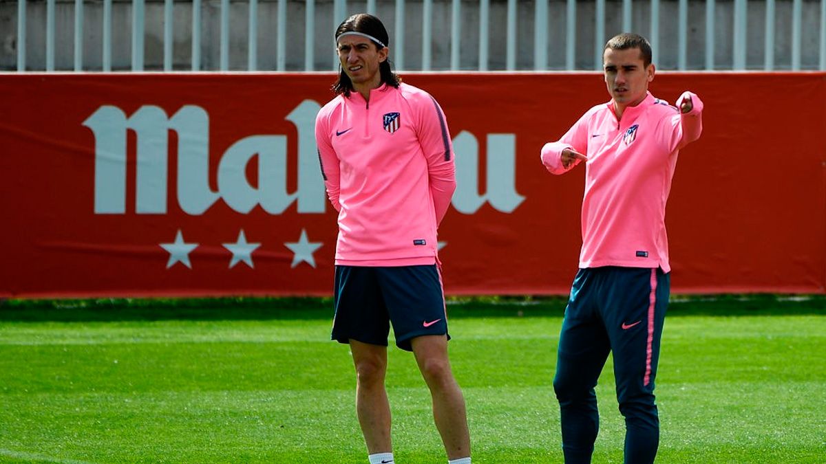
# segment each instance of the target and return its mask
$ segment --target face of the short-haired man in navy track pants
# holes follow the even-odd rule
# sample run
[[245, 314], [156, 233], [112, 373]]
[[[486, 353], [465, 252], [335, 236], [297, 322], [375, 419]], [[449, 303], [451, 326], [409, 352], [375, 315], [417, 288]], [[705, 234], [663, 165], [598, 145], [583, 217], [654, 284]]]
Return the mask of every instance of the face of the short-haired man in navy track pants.
[[605, 86], [614, 102], [627, 107], [643, 101], [648, 83], [654, 80], [654, 65], [645, 66], [643, 54], [638, 48], [605, 49], [602, 64]]

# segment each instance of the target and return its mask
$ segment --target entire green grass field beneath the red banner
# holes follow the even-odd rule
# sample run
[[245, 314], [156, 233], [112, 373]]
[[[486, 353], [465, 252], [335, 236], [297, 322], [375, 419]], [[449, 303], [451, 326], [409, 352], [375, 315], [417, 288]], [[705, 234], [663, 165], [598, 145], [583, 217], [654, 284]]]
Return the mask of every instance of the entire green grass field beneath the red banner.
[[[322, 300], [7, 301], [0, 462], [367, 462]], [[449, 305], [474, 462], [562, 462], [561, 299]], [[409, 353], [389, 351], [396, 460], [446, 462]], [[594, 462], [622, 462], [610, 359]], [[826, 462], [826, 298], [672, 301], [663, 463]]]

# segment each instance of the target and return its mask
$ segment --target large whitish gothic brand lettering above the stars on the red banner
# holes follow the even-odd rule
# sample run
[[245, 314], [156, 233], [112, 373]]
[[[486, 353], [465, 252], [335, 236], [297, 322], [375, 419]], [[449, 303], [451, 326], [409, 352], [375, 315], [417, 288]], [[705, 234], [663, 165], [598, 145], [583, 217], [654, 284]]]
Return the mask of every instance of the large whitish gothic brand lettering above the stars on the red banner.
[[[189, 215], [202, 215], [222, 198], [246, 214], [256, 205], [278, 215], [297, 202], [299, 213], [323, 213], [327, 207], [321, 178], [314, 123], [320, 106], [301, 102], [286, 116], [297, 129], [296, 192], [287, 192], [287, 135], [249, 135], [232, 144], [218, 163], [218, 192], [209, 186], [209, 115], [202, 107], [185, 105], [171, 118], [160, 107], [145, 105], [126, 117], [118, 107], [104, 105], [83, 125], [95, 137], [95, 214], [126, 213], [126, 133], [135, 131], [135, 211], [166, 214], [169, 187], [167, 159], [169, 130], [178, 135], [178, 206]], [[525, 196], [515, 187], [514, 134], [487, 135], [487, 192], [479, 192], [479, 144], [467, 131], [453, 140], [457, 189], [453, 207], [466, 215], [486, 202], [497, 211], [514, 211]], [[250, 185], [247, 165], [258, 155], [258, 186]]]

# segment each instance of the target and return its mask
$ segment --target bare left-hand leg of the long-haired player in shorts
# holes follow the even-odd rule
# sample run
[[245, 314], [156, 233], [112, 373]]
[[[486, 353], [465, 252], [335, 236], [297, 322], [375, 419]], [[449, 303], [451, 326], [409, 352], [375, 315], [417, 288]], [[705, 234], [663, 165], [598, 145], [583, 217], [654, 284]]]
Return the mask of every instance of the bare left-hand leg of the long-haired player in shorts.
[[369, 454], [392, 452], [390, 404], [384, 389], [387, 347], [350, 340], [356, 367], [356, 412]]

